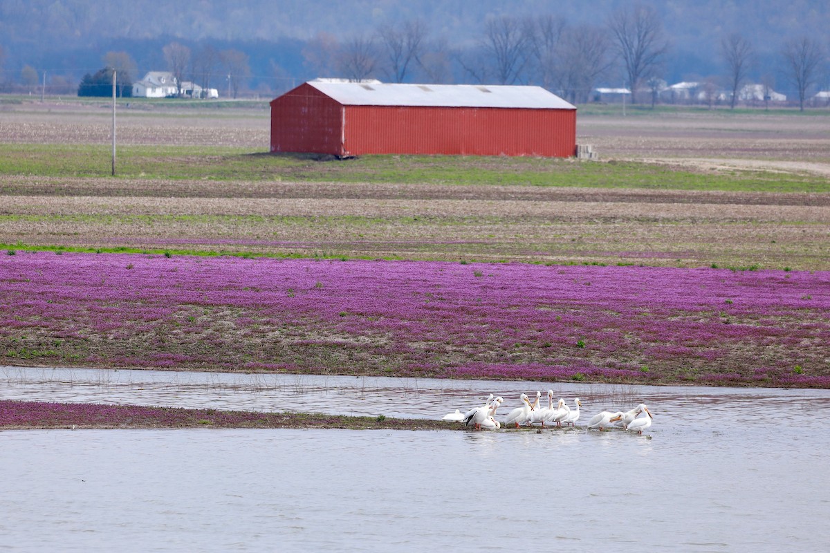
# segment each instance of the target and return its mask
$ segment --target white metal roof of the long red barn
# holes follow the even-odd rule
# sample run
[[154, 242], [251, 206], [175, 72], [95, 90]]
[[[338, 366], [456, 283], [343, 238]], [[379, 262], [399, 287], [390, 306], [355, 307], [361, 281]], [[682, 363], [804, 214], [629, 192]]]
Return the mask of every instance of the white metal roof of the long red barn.
[[398, 85], [332, 80], [310, 80], [308, 84], [344, 105], [576, 109], [540, 86]]

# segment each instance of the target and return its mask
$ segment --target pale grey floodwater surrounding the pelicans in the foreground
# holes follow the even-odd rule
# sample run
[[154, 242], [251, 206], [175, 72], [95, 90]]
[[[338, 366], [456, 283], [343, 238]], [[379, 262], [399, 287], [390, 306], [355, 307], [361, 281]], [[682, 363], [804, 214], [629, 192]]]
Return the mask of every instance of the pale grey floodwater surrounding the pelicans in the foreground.
[[548, 388], [654, 424], [5, 431], [0, 550], [830, 548], [830, 390], [0, 368], [2, 399], [427, 418]]

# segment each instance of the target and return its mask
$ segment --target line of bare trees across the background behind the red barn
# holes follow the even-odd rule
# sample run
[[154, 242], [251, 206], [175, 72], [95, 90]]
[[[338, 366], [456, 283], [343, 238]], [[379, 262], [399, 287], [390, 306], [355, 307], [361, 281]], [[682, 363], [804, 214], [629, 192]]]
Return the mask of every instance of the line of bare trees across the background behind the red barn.
[[[395, 83], [541, 85], [574, 104], [594, 99], [599, 85], [614, 84], [631, 90], [633, 103], [655, 104], [666, 88], [664, 75], [672, 51], [671, 38], [657, 12], [640, 4], [626, 4], [593, 24], [572, 23], [556, 14], [491, 17], [476, 40], [464, 45], [452, 45], [420, 19], [390, 22], [345, 38], [320, 32], [305, 41], [295, 67], [286, 69], [273, 59], [266, 64], [258, 61], [256, 75], [244, 48], [217, 50], [207, 42], [195, 46], [185, 42], [166, 44], [162, 49], [166, 66], [153, 69], [170, 71], [179, 84], [190, 80], [203, 89], [227, 90], [223, 95], [233, 98], [249, 94], [251, 80], [259, 83], [257, 90], [262, 94], [276, 95], [302, 80], [326, 76]], [[718, 52], [720, 75], [695, 75], [690, 80], [700, 81], [702, 101], [723, 102], [732, 108], [742, 86], [760, 74], [764, 90], [773, 90], [778, 80], [789, 86], [803, 109], [828, 66], [822, 37], [786, 41], [779, 47], [778, 70], [759, 68], [755, 45], [740, 33], [722, 36]], [[107, 52], [102, 61], [105, 68], [118, 71], [122, 82], [139, 76], [125, 51]], [[27, 65], [20, 75], [21, 85], [32, 89], [40, 78]], [[50, 75], [50, 79], [54, 83], [60, 77]], [[101, 71], [85, 75], [81, 88], [101, 87], [103, 80]], [[179, 89], [178, 95], [182, 94]]]

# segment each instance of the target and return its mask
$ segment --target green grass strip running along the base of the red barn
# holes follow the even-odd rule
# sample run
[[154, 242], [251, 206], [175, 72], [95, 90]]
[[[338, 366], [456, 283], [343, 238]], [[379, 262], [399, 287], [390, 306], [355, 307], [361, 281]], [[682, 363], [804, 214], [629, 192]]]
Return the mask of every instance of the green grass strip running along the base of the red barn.
[[[3, 144], [0, 175], [109, 177], [105, 145]], [[364, 156], [320, 161], [318, 156], [251, 153], [249, 148], [123, 146], [116, 179], [308, 182], [398, 182], [535, 187], [653, 188], [750, 192], [825, 192], [822, 177], [736, 170], [693, 172], [639, 162], [576, 163], [555, 158]]]

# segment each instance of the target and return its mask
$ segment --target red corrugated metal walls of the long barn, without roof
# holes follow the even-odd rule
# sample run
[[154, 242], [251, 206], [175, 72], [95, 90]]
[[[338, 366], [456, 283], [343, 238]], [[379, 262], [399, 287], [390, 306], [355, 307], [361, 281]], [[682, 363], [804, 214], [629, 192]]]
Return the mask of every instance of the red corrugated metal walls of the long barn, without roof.
[[271, 152], [573, 156], [576, 109], [554, 98], [570, 109], [349, 104], [305, 83], [271, 102]]

